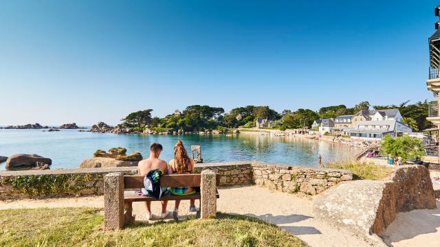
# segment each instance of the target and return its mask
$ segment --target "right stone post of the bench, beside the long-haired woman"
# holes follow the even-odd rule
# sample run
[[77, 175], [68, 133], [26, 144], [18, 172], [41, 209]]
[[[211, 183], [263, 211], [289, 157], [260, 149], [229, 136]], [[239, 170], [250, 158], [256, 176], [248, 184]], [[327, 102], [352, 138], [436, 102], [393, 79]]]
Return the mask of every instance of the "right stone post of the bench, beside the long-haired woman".
[[200, 217], [201, 219], [209, 219], [217, 215], [217, 185], [215, 173], [206, 169], [201, 172], [200, 181]]

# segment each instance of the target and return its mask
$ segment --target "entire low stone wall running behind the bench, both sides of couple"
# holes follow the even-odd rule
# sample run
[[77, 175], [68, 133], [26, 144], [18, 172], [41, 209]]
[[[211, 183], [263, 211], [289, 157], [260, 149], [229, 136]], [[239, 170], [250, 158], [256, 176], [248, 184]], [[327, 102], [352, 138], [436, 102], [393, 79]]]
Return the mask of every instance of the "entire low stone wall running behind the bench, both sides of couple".
[[[196, 164], [195, 172], [212, 169], [220, 186], [259, 185], [287, 193], [315, 195], [353, 174], [340, 169], [236, 161]], [[0, 200], [102, 195], [103, 178], [111, 172], [134, 175], [137, 167], [54, 169], [0, 172]]]

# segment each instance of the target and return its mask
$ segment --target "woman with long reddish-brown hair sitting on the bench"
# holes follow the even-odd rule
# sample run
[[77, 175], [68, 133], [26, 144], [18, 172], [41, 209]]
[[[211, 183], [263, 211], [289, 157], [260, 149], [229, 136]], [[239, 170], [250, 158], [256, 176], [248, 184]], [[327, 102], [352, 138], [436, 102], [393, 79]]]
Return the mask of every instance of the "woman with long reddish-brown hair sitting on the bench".
[[[193, 174], [194, 161], [188, 157], [188, 153], [182, 141], [177, 141], [174, 145], [174, 158], [168, 163], [168, 174]], [[193, 187], [177, 187], [171, 188], [171, 193], [177, 196], [186, 196], [195, 193]], [[175, 209], [173, 211], [173, 218], [177, 220], [179, 213], [180, 200], [175, 200]], [[195, 200], [190, 200], [190, 212], [197, 212], [199, 209], [195, 207]]]

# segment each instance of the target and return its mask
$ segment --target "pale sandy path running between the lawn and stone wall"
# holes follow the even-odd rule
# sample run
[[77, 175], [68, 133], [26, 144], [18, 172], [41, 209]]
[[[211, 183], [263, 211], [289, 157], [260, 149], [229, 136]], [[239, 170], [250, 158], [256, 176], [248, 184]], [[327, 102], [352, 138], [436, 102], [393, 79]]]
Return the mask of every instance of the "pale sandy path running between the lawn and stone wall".
[[[239, 213], [277, 224], [289, 233], [299, 237], [309, 246], [371, 246], [354, 237], [348, 231], [334, 228], [325, 222], [315, 220], [311, 213], [311, 200], [261, 187], [230, 187], [220, 189], [217, 210], [224, 213]], [[87, 198], [57, 198], [47, 200], [18, 200], [0, 204], [0, 209], [36, 207], [103, 207], [102, 196]], [[168, 204], [171, 211], [174, 202]], [[179, 213], [187, 215], [189, 202], [181, 202]], [[439, 204], [440, 207], [440, 204]], [[153, 214], [160, 210], [159, 202], [153, 202]], [[133, 204], [136, 220], [145, 220], [142, 202]], [[423, 217], [421, 218], [421, 215]], [[184, 217], [184, 216], [183, 216]], [[423, 223], [420, 223], [420, 219]], [[423, 228], [421, 228], [420, 223]], [[422, 230], [424, 229], [424, 230]], [[393, 246], [435, 246], [440, 239], [440, 209], [417, 210], [399, 213], [397, 220], [386, 230], [386, 242]], [[408, 234], [412, 233], [412, 234]], [[420, 235], [419, 235], [420, 234]], [[417, 235], [417, 236], [415, 236]], [[420, 245], [421, 243], [432, 243]], [[417, 244], [414, 244], [417, 243]], [[439, 245], [440, 246], [440, 245]]]

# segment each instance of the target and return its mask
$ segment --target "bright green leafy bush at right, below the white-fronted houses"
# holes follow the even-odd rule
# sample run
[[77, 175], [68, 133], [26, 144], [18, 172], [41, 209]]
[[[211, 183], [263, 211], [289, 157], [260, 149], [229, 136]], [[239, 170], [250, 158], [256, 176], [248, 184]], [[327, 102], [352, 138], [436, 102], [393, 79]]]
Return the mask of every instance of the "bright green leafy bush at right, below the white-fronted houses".
[[408, 137], [391, 137], [387, 134], [382, 139], [382, 154], [392, 154], [395, 157], [402, 157], [404, 161], [407, 159], [419, 158], [425, 155], [425, 147], [417, 138]]

